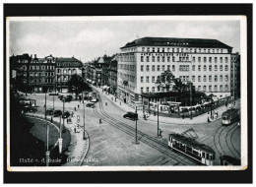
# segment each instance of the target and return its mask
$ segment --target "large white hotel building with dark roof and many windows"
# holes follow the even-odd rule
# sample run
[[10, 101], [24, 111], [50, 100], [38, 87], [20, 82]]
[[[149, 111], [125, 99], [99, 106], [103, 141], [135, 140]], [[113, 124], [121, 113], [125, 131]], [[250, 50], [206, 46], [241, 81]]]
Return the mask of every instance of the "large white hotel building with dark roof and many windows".
[[143, 37], [128, 42], [118, 58], [118, 96], [136, 105], [141, 94], [162, 92], [156, 81], [165, 70], [192, 82], [197, 91], [228, 96], [231, 51], [217, 39]]

